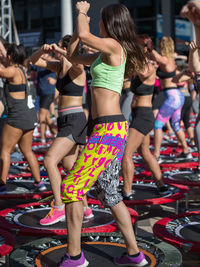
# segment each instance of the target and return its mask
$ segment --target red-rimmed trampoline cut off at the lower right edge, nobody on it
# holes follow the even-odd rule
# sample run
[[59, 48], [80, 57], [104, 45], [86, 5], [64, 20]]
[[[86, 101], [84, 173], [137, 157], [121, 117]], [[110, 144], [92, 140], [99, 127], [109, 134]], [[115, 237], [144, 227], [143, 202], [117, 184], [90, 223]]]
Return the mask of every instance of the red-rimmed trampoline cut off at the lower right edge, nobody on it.
[[156, 222], [154, 234], [167, 243], [184, 251], [200, 251], [200, 211], [191, 211]]

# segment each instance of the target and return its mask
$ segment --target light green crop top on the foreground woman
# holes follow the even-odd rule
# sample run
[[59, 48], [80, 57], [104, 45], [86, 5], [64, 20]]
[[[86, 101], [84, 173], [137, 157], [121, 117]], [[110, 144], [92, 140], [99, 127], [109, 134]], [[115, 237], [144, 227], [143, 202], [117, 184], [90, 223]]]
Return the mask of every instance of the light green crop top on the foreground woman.
[[98, 58], [90, 67], [90, 72], [92, 75], [91, 86], [106, 88], [121, 95], [126, 65], [126, 58], [124, 63], [122, 63], [123, 50], [121, 56], [121, 65], [116, 67], [102, 62], [101, 55], [102, 54], [98, 56]]

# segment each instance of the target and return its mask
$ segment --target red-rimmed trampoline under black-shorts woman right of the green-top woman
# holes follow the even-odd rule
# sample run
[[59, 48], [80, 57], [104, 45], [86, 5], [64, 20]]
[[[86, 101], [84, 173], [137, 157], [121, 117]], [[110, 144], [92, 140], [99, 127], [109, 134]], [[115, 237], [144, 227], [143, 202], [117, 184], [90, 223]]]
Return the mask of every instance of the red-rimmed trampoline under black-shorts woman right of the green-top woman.
[[[122, 184], [121, 184], [122, 187]], [[183, 185], [170, 184], [169, 193], [161, 196], [157, 190], [157, 186], [152, 180], [136, 181], [132, 184], [134, 191], [134, 200], [125, 200], [127, 205], [156, 205], [170, 203], [186, 196], [189, 188]], [[94, 204], [99, 204], [96, 199], [96, 194], [93, 189], [88, 193], [90, 201]]]

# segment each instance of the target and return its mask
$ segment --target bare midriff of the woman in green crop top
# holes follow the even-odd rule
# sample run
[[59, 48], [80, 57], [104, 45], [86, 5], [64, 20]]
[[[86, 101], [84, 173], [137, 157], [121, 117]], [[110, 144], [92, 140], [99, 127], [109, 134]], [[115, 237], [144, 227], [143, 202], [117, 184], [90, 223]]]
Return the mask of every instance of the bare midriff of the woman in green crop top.
[[101, 87], [92, 88], [92, 118], [122, 114], [120, 94]]

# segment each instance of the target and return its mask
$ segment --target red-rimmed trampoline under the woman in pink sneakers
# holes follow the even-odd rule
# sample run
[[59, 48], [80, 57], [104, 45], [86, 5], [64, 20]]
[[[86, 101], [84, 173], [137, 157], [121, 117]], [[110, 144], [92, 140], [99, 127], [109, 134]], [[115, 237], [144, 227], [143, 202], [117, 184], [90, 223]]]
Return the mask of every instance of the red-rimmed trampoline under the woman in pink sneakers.
[[[90, 202], [88, 201], [90, 204]], [[94, 217], [84, 220], [83, 233], [115, 232], [118, 230], [110, 209], [100, 205], [91, 205]], [[129, 208], [132, 223], [134, 224], [138, 214]], [[3, 229], [14, 229], [23, 235], [63, 235], [66, 234], [66, 223], [58, 222], [53, 225], [43, 226], [39, 221], [50, 211], [49, 203], [29, 203], [18, 205], [0, 211], [0, 226]]]

